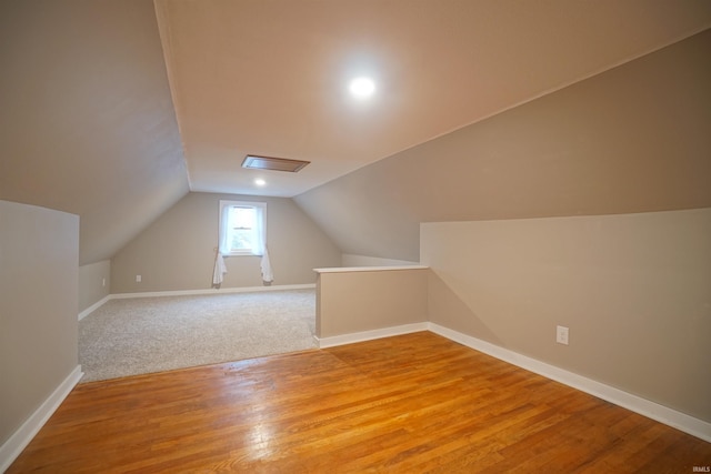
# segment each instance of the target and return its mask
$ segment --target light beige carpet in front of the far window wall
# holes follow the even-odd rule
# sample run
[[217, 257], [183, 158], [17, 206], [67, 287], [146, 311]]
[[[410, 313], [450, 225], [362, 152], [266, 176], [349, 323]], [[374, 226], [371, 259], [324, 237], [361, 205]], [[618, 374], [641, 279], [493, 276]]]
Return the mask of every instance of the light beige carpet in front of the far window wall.
[[313, 290], [110, 300], [79, 322], [81, 382], [314, 349]]

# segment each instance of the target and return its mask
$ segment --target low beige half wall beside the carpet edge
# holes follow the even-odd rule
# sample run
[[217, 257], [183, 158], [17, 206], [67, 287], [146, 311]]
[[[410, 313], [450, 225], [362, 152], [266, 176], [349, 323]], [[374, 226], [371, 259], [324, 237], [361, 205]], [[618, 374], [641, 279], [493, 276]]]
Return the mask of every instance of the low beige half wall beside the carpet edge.
[[427, 269], [319, 272], [317, 336], [425, 322], [427, 285]]

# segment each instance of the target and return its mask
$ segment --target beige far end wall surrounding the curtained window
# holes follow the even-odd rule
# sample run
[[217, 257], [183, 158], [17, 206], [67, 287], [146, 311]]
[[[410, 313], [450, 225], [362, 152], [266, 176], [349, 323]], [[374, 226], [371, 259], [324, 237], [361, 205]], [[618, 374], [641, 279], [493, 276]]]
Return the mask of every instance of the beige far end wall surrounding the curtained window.
[[[314, 268], [340, 265], [340, 250], [290, 199], [189, 193], [116, 254], [111, 293], [211, 288], [220, 199], [267, 202], [274, 285], [316, 283]], [[260, 258], [231, 256], [226, 263], [222, 288], [262, 285]]]

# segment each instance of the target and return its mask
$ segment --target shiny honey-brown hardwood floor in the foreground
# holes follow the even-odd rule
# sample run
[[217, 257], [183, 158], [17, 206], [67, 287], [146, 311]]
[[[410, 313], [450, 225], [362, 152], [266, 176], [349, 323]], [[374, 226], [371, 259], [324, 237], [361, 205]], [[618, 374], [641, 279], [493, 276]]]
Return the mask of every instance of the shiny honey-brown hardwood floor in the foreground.
[[79, 385], [8, 473], [691, 473], [711, 444], [429, 332]]

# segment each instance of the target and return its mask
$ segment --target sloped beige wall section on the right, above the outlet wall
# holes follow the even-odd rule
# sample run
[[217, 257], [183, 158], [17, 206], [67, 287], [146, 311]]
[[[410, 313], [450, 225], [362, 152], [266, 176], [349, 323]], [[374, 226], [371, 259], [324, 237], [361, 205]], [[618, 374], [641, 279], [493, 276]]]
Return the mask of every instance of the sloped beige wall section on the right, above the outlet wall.
[[710, 51], [708, 30], [296, 201], [344, 253], [409, 261], [420, 222], [711, 206]]

